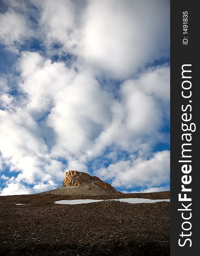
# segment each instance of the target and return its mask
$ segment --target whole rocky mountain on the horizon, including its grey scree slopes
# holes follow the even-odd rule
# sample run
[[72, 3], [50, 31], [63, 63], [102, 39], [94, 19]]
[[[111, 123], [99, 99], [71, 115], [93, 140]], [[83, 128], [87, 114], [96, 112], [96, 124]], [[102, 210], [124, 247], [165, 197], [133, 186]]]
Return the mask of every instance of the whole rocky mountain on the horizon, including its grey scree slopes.
[[58, 189], [53, 189], [46, 194], [55, 195], [119, 195], [122, 192], [116, 189], [109, 183], [104, 182], [99, 177], [91, 176], [85, 172], [68, 171], [62, 186]]

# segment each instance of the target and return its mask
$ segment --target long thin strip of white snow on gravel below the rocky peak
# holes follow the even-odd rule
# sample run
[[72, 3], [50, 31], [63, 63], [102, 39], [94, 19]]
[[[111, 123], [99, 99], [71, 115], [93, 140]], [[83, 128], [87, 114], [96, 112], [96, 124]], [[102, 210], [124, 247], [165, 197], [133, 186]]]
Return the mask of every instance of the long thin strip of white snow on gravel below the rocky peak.
[[93, 199], [78, 199], [78, 200], [61, 200], [56, 201], [55, 204], [88, 204], [100, 201], [120, 201], [130, 204], [141, 204], [141, 203], [157, 203], [157, 202], [170, 202], [170, 199], [145, 199], [145, 198], [120, 198], [120, 199], [109, 199], [109, 200], [93, 200]]

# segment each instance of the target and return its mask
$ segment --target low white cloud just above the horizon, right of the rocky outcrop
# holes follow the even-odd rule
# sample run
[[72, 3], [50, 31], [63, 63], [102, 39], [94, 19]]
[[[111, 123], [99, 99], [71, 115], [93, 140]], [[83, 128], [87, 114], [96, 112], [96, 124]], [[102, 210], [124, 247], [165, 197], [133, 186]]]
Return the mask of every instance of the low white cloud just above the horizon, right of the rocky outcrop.
[[112, 179], [112, 185], [116, 187], [155, 187], [169, 182], [169, 169], [170, 153], [160, 151], [150, 159], [138, 157], [136, 160], [119, 161], [95, 173], [102, 179]]

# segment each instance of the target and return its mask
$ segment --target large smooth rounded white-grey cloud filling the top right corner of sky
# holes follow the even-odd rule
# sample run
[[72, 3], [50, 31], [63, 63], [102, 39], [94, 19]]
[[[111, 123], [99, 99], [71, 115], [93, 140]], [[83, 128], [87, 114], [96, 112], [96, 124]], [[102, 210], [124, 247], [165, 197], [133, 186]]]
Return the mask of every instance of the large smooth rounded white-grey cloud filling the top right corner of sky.
[[167, 1], [159, 0], [90, 0], [75, 52], [104, 73], [130, 76], [168, 55], [168, 8]]

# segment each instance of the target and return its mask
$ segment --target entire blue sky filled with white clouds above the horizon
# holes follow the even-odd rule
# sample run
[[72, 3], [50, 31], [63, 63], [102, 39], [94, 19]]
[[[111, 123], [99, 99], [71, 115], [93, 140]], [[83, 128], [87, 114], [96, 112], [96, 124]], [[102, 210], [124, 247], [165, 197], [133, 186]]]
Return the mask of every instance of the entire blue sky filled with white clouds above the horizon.
[[68, 170], [170, 189], [168, 0], [0, 0], [0, 195]]

